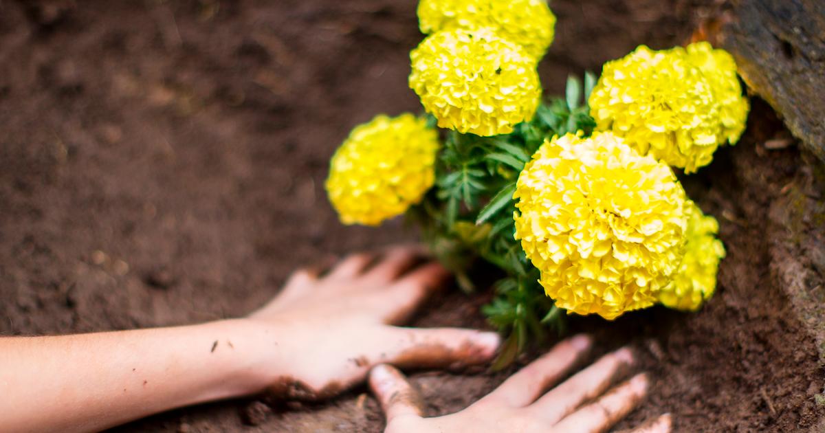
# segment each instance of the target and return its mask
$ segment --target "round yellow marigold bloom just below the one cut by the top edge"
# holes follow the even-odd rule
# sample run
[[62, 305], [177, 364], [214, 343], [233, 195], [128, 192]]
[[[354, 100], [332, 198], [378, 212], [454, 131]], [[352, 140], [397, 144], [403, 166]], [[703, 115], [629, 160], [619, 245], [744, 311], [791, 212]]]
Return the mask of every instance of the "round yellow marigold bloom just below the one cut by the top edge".
[[497, 135], [535, 115], [535, 61], [490, 29], [439, 31], [410, 53], [409, 84], [441, 128]]

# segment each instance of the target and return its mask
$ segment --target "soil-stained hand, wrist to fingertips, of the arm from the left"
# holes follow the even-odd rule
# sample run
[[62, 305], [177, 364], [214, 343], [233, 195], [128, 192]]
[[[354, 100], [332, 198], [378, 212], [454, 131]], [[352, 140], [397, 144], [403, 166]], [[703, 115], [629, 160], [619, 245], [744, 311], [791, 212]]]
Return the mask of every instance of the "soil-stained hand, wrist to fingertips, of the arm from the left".
[[449, 273], [435, 262], [414, 266], [421, 257], [410, 247], [375, 258], [348, 257], [323, 277], [298, 271], [281, 294], [247, 318], [275, 341], [264, 346], [276, 362], [260, 367], [271, 390], [287, 398], [328, 398], [381, 363], [458, 369], [493, 356], [500, 342], [493, 332], [392, 326]]

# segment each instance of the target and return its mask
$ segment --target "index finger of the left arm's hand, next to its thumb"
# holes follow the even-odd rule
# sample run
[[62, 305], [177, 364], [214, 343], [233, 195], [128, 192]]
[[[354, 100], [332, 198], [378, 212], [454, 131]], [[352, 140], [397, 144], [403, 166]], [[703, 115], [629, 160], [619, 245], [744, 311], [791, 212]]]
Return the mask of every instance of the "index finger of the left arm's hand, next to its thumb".
[[371, 301], [385, 323], [403, 323], [427, 296], [445, 285], [450, 271], [436, 262], [419, 266]]

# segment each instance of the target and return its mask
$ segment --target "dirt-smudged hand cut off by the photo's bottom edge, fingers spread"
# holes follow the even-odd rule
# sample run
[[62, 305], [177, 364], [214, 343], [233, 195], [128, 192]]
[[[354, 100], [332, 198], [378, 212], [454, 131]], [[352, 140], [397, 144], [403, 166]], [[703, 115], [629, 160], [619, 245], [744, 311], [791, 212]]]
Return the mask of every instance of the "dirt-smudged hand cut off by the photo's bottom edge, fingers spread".
[[[628, 349], [605, 355], [548, 393], [590, 347], [588, 337], [573, 337], [555, 346], [507, 379], [493, 393], [461, 412], [423, 418], [422, 399], [397, 369], [379, 365], [370, 373], [370, 388], [387, 417], [387, 433], [483, 433], [606, 431], [636, 407], [647, 393], [648, 379], [638, 374], [605, 393], [615, 376], [633, 364]], [[544, 395], [542, 395], [544, 393]], [[594, 401], [595, 398], [595, 401]], [[663, 415], [635, 433], [667, 433]]]

